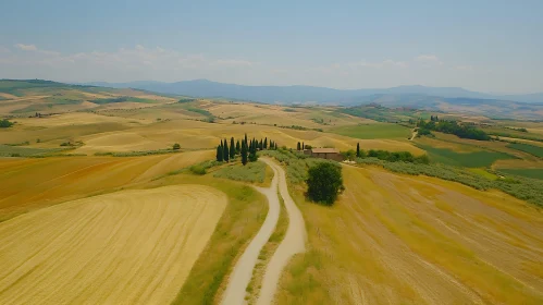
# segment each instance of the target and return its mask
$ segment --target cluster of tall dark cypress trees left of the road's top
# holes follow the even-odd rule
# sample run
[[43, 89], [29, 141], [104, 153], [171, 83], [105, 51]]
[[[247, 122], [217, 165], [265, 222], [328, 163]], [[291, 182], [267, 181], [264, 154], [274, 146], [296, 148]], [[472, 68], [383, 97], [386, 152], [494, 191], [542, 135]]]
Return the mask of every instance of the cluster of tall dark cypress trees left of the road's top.
[[256, 138], [249, 141], [247, 134], [245, 134], [245, 138], [237, 142], [234, 142], [234, 137], [231, 137], [230, 148], [226, 139], [221, 141], [221, 144], [217, 146], [217, 161], [229, 162], [236, 156], [242, 156], [242, 163], [245, 166], [248, 161], [255, 162], [258, 160], [257, 151], [264, 149], [277, 149], [277, 143], [271, 139], [268, 142], [268, 137], [260, 139], [260, 142]]

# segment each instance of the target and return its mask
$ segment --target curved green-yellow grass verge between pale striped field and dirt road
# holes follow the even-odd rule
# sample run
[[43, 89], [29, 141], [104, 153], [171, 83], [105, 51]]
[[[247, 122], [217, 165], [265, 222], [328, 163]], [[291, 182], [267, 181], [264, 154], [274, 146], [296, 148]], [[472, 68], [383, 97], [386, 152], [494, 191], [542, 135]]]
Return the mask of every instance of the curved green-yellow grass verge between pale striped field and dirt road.
[[229, 196], [229, 205], [213, 235], [193, 266], [190, 274], [172, 304], [214, 304], [238, 255], [261, 227], [268, 212], [266, 197], [251, 187], [215, 180], [209, 175], [169, 175], [156, 183], [198, 183]]

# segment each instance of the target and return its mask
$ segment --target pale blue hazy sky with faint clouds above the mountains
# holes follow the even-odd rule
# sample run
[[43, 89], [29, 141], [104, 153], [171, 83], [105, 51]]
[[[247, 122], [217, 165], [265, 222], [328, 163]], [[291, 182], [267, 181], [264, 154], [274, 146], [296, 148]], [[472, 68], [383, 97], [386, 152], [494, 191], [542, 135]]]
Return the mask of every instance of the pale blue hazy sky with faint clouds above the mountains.
[[543, 91], [543, 1], [0, 0], [0, 78]]

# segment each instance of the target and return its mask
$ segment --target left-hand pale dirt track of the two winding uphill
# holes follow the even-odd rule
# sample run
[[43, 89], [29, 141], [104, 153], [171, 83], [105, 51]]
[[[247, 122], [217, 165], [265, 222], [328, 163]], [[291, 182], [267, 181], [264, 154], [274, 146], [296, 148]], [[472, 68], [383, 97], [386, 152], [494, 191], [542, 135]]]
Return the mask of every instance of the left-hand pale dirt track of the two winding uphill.
[[[263, 159], [262, 159], [263, 160]], [[269, 161], [263, 160], [266, 163], [270, 164]], [[260, 251], [266, 245], [271, 234], [275, 230], [277, 224], [279, 213], [281, 210], [281, 204], [277, 196], [277, 181], [279, 174], [277, 170], [273, 169], [273, 179], [270, 187], [258, 187], [254, 186], [258, 192], [266, 195], [268, 198], [268, 216], [266, 217], [264, 223], [258, 231], [257, 235], [252, 239], [249, 246], [245, 249], [242, 257], [236, 263], [234, 270], [229, 279], [229, 285], [224, 291], [222, 303], [224, 305], [238, 305], [245, 304], [245, 289], [250, 282], [252, 277], [252, 269], [257, 265], [258, 255]]]

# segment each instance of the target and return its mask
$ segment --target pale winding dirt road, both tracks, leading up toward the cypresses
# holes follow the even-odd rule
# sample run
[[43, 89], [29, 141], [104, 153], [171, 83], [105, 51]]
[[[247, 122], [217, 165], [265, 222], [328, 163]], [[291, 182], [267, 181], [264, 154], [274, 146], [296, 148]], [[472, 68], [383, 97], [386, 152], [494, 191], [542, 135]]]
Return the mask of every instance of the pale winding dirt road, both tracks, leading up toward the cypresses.
[[249, 246], [242, 255], [239, 260], [234, 267], [234, 271], [229, 280], [229, 285], [224, 292], [222, 304], [237, 305], [245, 304], [246, 288], [249, 284], [252, 270], [258, 260], [258, 255], [260, 251], [266, 245], [271, 234], [275, 230], [277, 224], [279, 213], [281, 205], [277, 196], [277, 187], [281, 197], [285, 203], [286, 211], [288, 215], [288, 229], [286, 231], [285, 237], [279, 245], [277, 249], [273, 254], [270, 263], [268, 264], [262, 280], [262, 288], [260, 290], [260, 295], [258, 297], [258, 304], [271, 304], [277, 283], [281, 277], [281, 272], [285, 268], [288, 260], [293, 255], [301, 253], [306, 249], [306, 227], [304, 223], [304, 218], [298, 207], [291, 198], [288, 194], [288, 188], [286, 185], [285, 171], [277, 166], [275, 162], [267, 158], [260, 158], [261, 161], [266, 162], [273, 170], [273, 180], [270, 187], [258, 187], [255, 186], [257, 191], [266, 195], [268, 198], [268, 204], [270, 205], [270, 210], [266, 217], [264, 223], [258, 231], [257, 235], [250, 242]]

